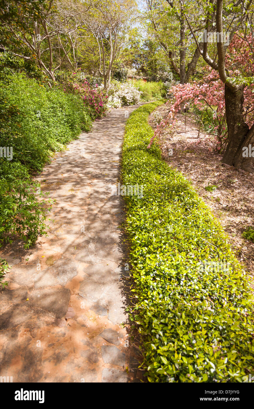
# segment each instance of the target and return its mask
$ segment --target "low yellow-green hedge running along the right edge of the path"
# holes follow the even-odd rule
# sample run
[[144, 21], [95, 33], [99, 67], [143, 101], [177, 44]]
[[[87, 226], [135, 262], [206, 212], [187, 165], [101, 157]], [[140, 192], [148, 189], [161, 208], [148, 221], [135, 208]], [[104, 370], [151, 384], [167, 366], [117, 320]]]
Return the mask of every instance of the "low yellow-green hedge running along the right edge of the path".
[[[147, 149], [157, 105], [130, 115], [122, 154], [122, 183], [143, 185], [143, 198], [125, 197], [143, 366], [149, 382], [242, 382], [254, 357], [248, 277], [190, 182]], [[209, 261], [228, 268], [202, 271]]]

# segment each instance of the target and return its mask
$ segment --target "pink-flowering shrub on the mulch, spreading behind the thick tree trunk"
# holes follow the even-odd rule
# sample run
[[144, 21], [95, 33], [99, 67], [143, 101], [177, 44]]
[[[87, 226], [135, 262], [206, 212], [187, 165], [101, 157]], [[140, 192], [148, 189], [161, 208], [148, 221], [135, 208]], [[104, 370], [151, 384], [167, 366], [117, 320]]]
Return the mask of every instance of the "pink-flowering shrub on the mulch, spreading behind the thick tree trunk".
[[[251, 39], [249, 39], [250, 41]], [[252, 40], [253, 43], [253, 40]], [[254, 61], [248, 43], [235, 35], [234, 40], [230, 43], [226, 56], [226, 66], [230, 67], [228, 73], [234, 76], [236, 80], [253, 76]], [[219, 78], [219, 73], [212, 70], [210, 66], [203, 68], [203, 76], [199, 81], [193, 83], [178, 84], [170, 90], [174, 99], [168, 101], [170, 112], [166, 119], [157, 125], [154, 135], [152, 136], [148, 148], [156, 136], [161, 135], [165, 126], [174, 127], [177, 118], [176, 114], [184, 108], [194, 107], [201, 113], [209, 116], [210, 130], [216, 140], [216, 150], [221, 152], [227, 142], [227, 125], [225, 114], [224, 84]], [[254, 84], [250, 83], [244, 90], [244, 117], [249, 127], [254, 123]]]

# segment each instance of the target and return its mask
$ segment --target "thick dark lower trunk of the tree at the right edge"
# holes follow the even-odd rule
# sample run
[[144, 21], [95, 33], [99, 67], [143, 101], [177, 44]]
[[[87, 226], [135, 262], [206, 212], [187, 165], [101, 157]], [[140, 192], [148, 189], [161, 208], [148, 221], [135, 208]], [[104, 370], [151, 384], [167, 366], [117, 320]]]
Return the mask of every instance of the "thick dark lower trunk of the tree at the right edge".
[[250, 144], [254, 146], [254, 127], [249, 127], [243, 117], [243, 90], [244, 86], [239, 86], [232, 90], [225, 84], [225, 109], [227, 119], [228, 144], [223, 155], [222, 162], [236, 169], [243, 169], [253, 172], [252, 157], [243, 157], [243, 147]]

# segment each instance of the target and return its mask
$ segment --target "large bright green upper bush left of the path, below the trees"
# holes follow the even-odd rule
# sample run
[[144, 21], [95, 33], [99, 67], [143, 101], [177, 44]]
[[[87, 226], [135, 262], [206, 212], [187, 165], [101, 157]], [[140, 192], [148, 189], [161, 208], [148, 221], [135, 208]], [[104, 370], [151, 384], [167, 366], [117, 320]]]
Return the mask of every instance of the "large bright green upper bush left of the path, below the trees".
[[12, 146], [13, 162], [35, 170], [92, 126], [81, 98], [24, 74], [0, 88], [0, 119], [1, 146]]

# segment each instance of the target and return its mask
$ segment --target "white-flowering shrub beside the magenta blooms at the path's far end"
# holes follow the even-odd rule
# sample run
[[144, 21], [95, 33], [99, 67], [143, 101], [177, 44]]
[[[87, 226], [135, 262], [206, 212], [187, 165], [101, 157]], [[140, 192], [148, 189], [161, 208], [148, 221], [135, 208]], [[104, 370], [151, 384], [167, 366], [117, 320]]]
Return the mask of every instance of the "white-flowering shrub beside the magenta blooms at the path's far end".
[[137, 90], [131, 82], [114, 81], [108, 90], [108, 108], [136, 105], [139, 103], [142, 91]]

